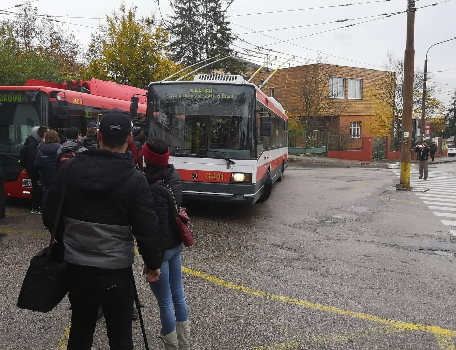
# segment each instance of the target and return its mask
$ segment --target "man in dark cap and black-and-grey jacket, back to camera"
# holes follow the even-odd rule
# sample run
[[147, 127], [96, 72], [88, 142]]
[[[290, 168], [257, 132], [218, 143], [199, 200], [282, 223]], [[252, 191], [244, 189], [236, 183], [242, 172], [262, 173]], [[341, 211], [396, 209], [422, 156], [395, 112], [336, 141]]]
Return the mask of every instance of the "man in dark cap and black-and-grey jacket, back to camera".
[[[162, 254], [151, 191], [144, 173], [125, 157], [131, 129], [128, 113], [103, 113], [100, 149], [89, 149], [65, 162], [49, 190], [44, 224], [49, 231], [59, 225], [56, 240], [63, 241], [68, 263], [72, 308], [68, 350], [91, 349], [99, 306], [104, 310], [110, 349], [133, 349], [133, 236], [151, 270], [148, 278], [158, 281], [160, 275]], [[61, 218], [54, 222], [64, 183]]]

